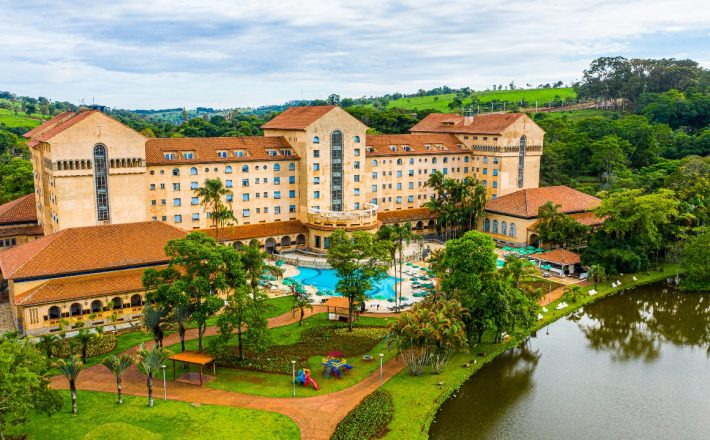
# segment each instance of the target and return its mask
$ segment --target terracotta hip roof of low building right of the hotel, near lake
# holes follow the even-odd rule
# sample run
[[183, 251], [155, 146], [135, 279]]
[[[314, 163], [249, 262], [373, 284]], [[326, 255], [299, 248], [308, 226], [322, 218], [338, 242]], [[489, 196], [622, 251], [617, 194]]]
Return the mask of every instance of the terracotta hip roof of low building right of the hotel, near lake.
[[540, 206], [547, 202], [560, 205], [560, 211], [572, 214], [591, 211], [601, 200], [567, 186], [546, 186], [521, 189], [486, 203], [486, 211], [512, 215], [520, 218], [535, 218]]

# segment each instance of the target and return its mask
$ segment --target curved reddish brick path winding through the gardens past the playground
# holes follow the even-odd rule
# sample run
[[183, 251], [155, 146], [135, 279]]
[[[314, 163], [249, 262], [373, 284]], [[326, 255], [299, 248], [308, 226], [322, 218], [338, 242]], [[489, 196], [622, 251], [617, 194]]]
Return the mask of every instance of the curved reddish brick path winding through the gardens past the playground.
[[[325, 312], [325, 306], [313, 306], [313, 310], [308, 310], [306, 316]], [[394, 317], [394, 313], [363, 313], [361, 316], [371, 317]], [[269, 319], [269, 327], [280, 327], [297, 322], [291, 313]], [[205, 336], [217, 333], [216, 327], [209, 327]], [[186, 340], [196, 339], [197, 330], [189, 330]], [[163, 339], [164, 345], [172, 345], [180, 342], [177, 334], [171, 334]], [[127, 352], [134, 352], [137, 347], [132, 347]], [[397, 374], [404, 364], [399, 358], [391, 359], [384, 364], [383, 381], [389, 380]], [[181, 382], [170, 381], [168, 384], [168, 399], [180, 400], [184, 402], [197, 402], [201, 404], [235, 406], [240, 408], [253, 408], [264, 411], [275, 411], [291, 417], [301, 429], [301, 438], [304, 439], [329, 439], [338, 423], [355, 408], [360, 401], [371, 394], [380, 386], [379, 372], [367, 376], [362, 381], [350, 388], [336, 391], [330, 394], [323, 394], [314, 397], [263, 397], [252, 394], [236, 393], [224, 390], [217, 390], [206, 387], [199, 387]], [[52, 378], [52, 387], [58, 389], [68, 388], [68, 382], [63, 376]], [[77, 379], [77, 388], [80, 390], [103, 391], [108, 393], [116, 392], [116, 382], [111, 373], [102, 365], [94, 365], [82, 371]], [[162, 387], [156, 380], [153, 389], [154, 397], [161, 397]], [[147, 396], [148, 392], [143, 376], [135, 366], [132, 366], [123, 376], [123, 392], [134, 396]]]

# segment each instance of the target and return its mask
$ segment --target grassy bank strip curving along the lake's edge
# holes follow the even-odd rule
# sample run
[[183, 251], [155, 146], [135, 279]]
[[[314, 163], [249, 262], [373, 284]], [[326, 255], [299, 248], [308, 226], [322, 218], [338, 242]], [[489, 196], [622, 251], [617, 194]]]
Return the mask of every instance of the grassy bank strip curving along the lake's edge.
[[[584, 297], [573, 303], [570, 300], [561, 298], [558, 301], [547, 305], [547, 313], [544, 318], [537, 321], [530, 333], [568, 315], [581, 308], [585, 304], [597, 301], [608, 295], [613, 295], [624, 289], [629, 289], [642, 284], [649, 284], [659, 280], [664, 280], [682, 273], [683, 268], [679, 265], [665, 265], [658, 270], [649, 270], [638, 274], [626, 274], [624, 276], [610, 277], [606, 283], [600, 283], [596, 290], [597, 294], [590, 296], [589, 289], [594, 286], [583, 287]], [[633, 281], [633, 277], [637, 281]], [[621, 280], [619, 288], [611, 287], [612, 281]], [[564, 310], [555, 310], [558, 303], [566, 301], [569, 306]], [[542, 312], [541, 312], [542, 313]], [[484, 343], [472, 348], [471, 353], [457, 353], [451, 359], [443, 373], [439, 375], [425, 374], [418, 377], [409, 376], [406, 370], [402, 370], [384, 385], [384, 389], [392, 394], [394, 401], [394, 417], [389, 424], [389, 431], [384, 438], [388, 439], [425, 439], [428, 438], [429, 425], [436, 415], [439, 406], [463, 384], [471, 375], [478, 371], [485, 363], [495, 359], [500, 353], [512, 348], [522, 342], [521, 339], [508, 339], [501, 344]], [[490, 339], [488, 339], [490, 340]], [[486, 356], [479, 357], [477, 353], [485, 352]], [[476, 363], [468, 368], [463, 365], [475, 359]], [[437, 385], [442, 382], [443, 385]]]

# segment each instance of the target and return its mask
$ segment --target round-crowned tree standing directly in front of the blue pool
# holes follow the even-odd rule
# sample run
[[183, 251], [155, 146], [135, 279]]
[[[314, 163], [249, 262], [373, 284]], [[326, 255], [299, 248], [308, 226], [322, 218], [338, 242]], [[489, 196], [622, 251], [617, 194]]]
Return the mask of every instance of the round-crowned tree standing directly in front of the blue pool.
[[330, 236], [328, 264], [338, 274], [335, 290], [348, 299], [348, 328], [353, 329], [355, 303], [364, 302], [373, 282], [387, 275], [389, 245], [372, 234], [338, 229]]

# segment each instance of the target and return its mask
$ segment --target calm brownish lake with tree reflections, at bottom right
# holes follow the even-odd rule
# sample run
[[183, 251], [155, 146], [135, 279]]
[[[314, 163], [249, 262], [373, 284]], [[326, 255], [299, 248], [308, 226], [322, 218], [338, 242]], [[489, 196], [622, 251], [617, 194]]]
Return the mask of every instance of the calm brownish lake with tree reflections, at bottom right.
[[710, 295], [664, 289], [538, 331], [445, 402], [430, 437], [710, 439]]

